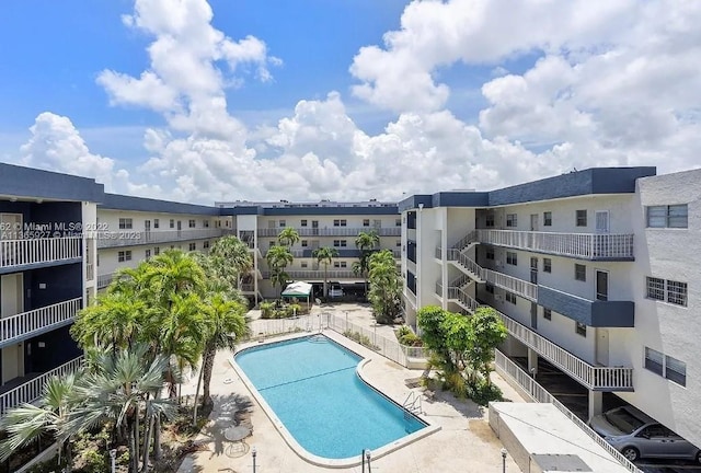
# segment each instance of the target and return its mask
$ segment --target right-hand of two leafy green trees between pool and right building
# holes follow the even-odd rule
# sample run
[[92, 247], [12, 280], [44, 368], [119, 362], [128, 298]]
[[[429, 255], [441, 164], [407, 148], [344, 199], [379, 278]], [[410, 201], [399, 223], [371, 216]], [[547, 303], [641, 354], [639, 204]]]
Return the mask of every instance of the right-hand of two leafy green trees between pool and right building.
[[506, 339], [508, 331], [497, 312], [490, 307], [478, 308], [468, 321], [470, 336], [468, 337], [467, 358], [490, 384], [494, 348]]

